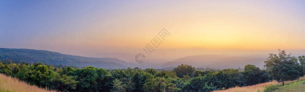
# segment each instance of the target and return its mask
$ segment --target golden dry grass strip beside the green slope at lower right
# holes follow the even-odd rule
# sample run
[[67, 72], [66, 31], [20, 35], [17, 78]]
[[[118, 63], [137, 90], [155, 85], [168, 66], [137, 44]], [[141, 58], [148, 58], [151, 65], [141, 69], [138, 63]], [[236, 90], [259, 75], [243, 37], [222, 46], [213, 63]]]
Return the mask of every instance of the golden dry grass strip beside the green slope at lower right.
[[272, 85], [280, 85], [280, 82], [272, 81], [272, 82], [266, 82], [261, 83], [253, 86], [236, 86], [233, 88], [229, 88], [227, 90], [218, 90], [213, 92], [263, 92], [266, 87], [272, 86]]

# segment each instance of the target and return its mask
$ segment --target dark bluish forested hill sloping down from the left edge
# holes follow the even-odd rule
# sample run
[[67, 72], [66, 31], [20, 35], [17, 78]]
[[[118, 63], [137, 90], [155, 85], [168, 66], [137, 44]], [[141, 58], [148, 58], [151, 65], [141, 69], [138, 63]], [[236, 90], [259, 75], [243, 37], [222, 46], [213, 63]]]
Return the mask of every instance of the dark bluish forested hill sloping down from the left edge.
[[34, 49], [0, 48], [0, 59], [16, 60], [27, 63], [42, 62], [77, 67], [126, 68], [126, 66], [122, 65], [126, 64], [126, 62], [117, 58], [91, 58]]

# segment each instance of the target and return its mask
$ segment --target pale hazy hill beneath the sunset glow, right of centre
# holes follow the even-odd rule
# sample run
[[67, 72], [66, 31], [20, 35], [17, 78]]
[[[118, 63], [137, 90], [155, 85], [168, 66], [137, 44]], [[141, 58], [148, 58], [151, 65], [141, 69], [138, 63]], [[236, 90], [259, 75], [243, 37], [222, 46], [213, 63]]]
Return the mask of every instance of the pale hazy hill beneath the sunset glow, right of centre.
[[257, 67], [263, 67], [264, 56], [234, 56], [234, 55], [195, 55], [175, 59], [165, 63], [162, 67], [173, 67], [180, 64], [192, 65], [193, 67], [209, 68], [238, 68], [247, 64], [253, 64]]

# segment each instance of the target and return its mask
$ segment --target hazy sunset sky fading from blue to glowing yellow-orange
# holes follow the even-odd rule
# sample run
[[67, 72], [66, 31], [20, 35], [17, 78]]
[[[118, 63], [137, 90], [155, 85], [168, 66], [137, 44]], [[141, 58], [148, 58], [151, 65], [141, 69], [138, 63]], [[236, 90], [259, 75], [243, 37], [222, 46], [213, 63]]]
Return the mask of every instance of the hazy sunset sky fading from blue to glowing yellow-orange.
[[0, 48], [135, 55], [165, 28], [152, 57], [303, 54], [304, 9], [304, 0], [0, 1]]

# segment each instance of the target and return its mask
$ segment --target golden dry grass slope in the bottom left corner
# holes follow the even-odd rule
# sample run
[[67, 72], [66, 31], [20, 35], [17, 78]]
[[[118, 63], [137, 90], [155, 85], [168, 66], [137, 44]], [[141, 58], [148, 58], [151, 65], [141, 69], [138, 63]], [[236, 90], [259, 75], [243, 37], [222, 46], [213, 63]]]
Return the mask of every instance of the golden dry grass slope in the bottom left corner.
[[26, 82], [19, 81], [0, 74], [0, 92], [56, 92], [41, 89], [37, 86], [29, 85]]

